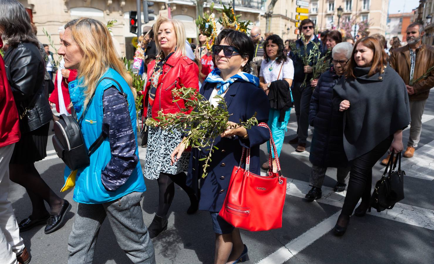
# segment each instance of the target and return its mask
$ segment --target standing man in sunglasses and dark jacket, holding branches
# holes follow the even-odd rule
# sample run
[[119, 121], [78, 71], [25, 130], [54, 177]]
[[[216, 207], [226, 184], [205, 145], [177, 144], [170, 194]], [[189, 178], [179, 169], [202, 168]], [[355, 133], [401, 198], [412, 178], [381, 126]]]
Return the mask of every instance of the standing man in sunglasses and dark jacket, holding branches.
[[[300, 32], [304, 34], [304, 40], [297, 39], [296, 47], [299, 50], [299, 54], [294, 54], [294, 88], [292, 90], [294, 97], [294, 107], [296, 108], [297, 117], [297, 137], [289, 140], [291, 144], [297, 144], [296, 151], [303, 152], [306, 150], [307, 132], [309, 129], [309, 104], [312, 97], [312, 87], [310, 86], [310, 79], [312, 78], [312, 65], [303, 65], [302, 56], [304, 56], [304, 43], [307, 43], [307, 54], [313, 49], [312, 42], [319, 43], [319, 49], [322, 49], [320, 40], [315, 36], [314, 29], [315, 24], [312, 20], [305, 19], [300, 23]], [[306, 85], [302, 86], [302, 83], [306, 77]]]

